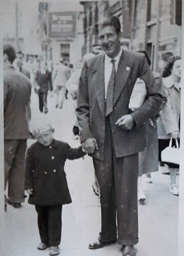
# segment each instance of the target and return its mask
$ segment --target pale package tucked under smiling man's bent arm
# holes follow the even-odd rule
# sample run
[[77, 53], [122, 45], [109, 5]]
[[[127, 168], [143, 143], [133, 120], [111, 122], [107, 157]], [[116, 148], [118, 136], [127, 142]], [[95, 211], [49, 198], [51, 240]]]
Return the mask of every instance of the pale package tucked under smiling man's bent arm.
[[134, 85], [133, 91], [129, 99], [129, 109], [135, 111], [139, 109], [144, 103], [144, 99], [147, 94], [146, 85], [143, 80], [138, 78]]

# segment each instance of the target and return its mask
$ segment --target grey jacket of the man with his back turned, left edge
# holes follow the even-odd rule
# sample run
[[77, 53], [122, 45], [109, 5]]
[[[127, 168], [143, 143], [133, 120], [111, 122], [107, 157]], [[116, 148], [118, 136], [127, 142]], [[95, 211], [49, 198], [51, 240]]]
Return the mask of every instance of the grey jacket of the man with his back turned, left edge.
[[30, 80], [13, 66], [4, 68], [4, 139], [30, 138], [27, 108], [30, 104]]

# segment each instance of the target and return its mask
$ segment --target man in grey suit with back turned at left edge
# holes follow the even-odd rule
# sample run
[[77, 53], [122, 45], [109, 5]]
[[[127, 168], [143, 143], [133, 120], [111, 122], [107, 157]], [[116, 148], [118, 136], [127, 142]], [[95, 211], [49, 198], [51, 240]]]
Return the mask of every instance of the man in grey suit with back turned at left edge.
[[24, 203], [24, 164], [27, 139], [30, 138], [30, 80], [16, 71], [12, 63], [16, 57], [14, 47], [3, 45], [4, 62], [4, 190], [9, 183], [7, 203], [20, 208]]

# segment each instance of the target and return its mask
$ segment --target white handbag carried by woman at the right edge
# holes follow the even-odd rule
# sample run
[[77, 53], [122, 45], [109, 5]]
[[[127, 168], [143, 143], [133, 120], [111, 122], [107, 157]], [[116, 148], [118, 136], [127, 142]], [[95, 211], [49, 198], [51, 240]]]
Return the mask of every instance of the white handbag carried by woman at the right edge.
[[177, 165], [180, 164], [180, 149], [178, 145], [178, 140], [176, 140], [177, 147], [172, 147], [172, 139], [170, 139], [169, 147], [166, 147], [161, 152], [162, 162], [175, 163]]

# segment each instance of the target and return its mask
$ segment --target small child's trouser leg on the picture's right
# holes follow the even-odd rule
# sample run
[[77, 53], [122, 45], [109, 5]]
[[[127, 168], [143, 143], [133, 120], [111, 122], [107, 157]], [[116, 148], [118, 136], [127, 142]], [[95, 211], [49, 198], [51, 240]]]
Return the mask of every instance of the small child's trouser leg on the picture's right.
[[50, 246], [58, 246], [61, 242], [62, 205], [50, 206], [48, 211], [48, 237]]

